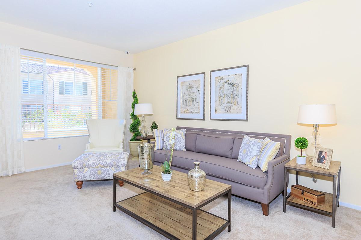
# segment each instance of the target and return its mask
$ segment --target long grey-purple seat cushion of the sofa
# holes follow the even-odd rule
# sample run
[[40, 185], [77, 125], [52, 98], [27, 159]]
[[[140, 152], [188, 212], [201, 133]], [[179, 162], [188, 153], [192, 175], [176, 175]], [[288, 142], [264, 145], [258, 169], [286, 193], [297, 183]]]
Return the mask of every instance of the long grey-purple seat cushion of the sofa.
[[[154, 161], [163, 163], [165, 154], [165, 150], [155, 150]], [[263, 189], [266, 185], [267, 172], [262, 172], [259, 167], [252, 169], [237, 160], [204, 153], [194, 153], [192, 151], [173, 152], [172, 166], [190, 170], [194, 168], [193, 162], [195, 161], [201, 163], [200, 168], [207, 175], [259, 189]]]

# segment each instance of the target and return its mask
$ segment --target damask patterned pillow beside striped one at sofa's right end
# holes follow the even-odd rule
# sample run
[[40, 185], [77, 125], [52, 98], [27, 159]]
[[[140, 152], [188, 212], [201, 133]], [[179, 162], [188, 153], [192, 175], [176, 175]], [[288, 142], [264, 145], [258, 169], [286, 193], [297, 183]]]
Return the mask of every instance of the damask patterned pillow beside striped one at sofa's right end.
[[237, 161], [243, 162], [248, 167], [255, 169], [258, 158], [260, 158], [262, 142], [263, 139], [255, 139], [244, 135]]

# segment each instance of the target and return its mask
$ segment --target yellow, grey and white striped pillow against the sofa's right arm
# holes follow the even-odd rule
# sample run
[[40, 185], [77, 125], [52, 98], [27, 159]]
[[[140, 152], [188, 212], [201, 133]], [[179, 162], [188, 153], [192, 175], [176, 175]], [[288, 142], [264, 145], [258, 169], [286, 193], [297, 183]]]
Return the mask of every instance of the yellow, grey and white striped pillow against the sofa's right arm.
[[280, 146], [281, 144], [279, 142], [274, 142], [268, 137], [263, 140], [260, 158], [258, 159], [258, 166], [262, 172], [268, 170], [268, 162], [276, 157]]

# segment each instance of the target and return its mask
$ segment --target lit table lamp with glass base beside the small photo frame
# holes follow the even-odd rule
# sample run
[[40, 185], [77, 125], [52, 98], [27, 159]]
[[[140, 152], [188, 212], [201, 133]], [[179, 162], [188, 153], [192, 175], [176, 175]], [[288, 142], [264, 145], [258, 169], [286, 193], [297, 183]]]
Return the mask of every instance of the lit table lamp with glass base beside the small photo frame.
[[319, 141], [319, 124], [336, 124], [335, 104], [300, 105], [297, 123], [313, 125], [313, 141], [306, 149], [306, 155], [312, 162], [317, 148], [321, 147]]

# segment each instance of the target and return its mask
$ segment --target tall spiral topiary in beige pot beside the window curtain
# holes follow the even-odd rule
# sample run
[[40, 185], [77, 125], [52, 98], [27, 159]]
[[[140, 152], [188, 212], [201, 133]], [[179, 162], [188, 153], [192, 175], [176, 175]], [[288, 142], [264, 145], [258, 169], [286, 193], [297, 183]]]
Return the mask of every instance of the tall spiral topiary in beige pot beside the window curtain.
[[137, 115], [134, 114], [134, 106], [138, 103], [138, 96], [136, 95], [135, 89], [132, 93], [133, 102], [132, 102], [132, 112], [130, 113], [130, 119], [132, 122], [129, 126], [129, 131], [133, 133], [129, 141], [129, 150], [130, 154], [133, 156], [132, 160], [139, 160], [139, 153], [138, 153], [138, 145], [142, 144], [142, 140], [136, 139], [136, 137], [140, 136], [139, 126], [140, 126], [140, 119]]

